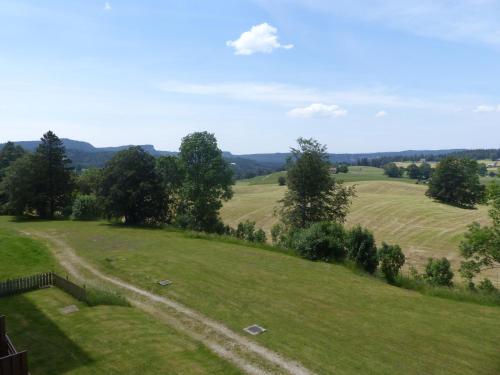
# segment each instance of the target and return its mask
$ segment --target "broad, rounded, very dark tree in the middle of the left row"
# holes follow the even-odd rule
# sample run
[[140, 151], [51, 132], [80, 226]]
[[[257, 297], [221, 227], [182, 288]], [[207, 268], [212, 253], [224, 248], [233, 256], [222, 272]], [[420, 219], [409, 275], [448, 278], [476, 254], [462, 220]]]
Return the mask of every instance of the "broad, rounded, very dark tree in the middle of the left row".
[[103, 170], [99, 191], [104, 214], [126, 224], [156, 224], [165, 220], [165, 195], [156, 161], [141, 147], [120, 151]]

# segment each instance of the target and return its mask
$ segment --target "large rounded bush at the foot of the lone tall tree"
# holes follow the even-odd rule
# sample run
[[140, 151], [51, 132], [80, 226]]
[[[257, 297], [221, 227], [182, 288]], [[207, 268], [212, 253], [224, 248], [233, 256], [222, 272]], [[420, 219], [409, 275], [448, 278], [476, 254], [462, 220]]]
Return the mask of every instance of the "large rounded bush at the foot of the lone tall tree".
[[346, 234], [338, 223], [314, 223], [292, 236], [293, 248], [306, 259], [342, 261], [346, 256]]

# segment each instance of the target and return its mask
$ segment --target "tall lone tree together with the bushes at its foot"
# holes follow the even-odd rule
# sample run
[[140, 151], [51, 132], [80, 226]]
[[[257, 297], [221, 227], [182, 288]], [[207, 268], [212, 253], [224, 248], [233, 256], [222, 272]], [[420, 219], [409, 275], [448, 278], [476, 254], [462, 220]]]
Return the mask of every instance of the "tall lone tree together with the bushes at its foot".
[[401, 248], [384, 243], [377, 249], [369, 230], [344, 228], [354, 187], [331, 175], [325, 146], [302, 138], [298, 145], [287, 164], [288, 190], [277, 212], [280, 223], [271, 232], [273, 243], [310, 260], [347, 260], [369, 273], [380, 265], [387, 280], [394, 282], [405, 261]]

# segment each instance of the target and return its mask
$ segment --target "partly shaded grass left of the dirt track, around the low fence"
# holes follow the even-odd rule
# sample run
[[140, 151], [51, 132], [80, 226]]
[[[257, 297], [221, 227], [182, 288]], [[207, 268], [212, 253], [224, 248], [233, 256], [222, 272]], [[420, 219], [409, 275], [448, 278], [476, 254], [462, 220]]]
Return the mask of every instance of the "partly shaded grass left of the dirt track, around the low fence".
[[[0, 229], [0, 279], [58, 269], [37, 241]], [[62, 315], [59, 309], [80, 311]], [[193, 340], [133, 309], [88, 307], [58, 289], [0, 299], [0, 313], [30, 372], [41, 374], [238, 374]]]

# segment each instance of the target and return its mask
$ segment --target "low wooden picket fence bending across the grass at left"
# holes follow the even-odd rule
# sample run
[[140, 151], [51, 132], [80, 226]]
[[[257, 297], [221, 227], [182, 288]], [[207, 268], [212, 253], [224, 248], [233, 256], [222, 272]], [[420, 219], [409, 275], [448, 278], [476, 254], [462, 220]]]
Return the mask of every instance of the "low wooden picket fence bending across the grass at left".
[[68, 278], [63, 278], [54, 272], [40, 273], [38, 275], [1, 281], [0, 297], [25, 293], [31, 290], [47, 288], [49, 286], [56, 286], [79, 301], [87, 301], [87, 290], [85, 287], [82, 288], [81, 286], [69, 281]]

